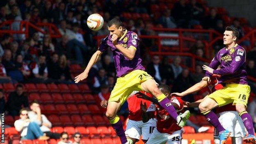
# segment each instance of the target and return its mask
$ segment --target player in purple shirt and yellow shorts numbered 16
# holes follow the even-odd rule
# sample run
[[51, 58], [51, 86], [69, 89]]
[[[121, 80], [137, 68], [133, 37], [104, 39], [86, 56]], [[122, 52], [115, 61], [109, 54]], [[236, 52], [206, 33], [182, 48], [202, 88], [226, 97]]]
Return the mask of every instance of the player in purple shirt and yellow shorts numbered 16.
[[[210, 82], [211, 75], [217, 74], [221, 75], [219, 82], [224, 85], [223, 89], [213, 92], [199, 105], [201, 113], [219, 131], [220, 144], [226, 142], [230, 132], [229, 130], [225, 130], [219, 123], [218, 117], [212, 109], [229, 103], [235, 105], [236, 111], [242, 118], [245, 128], [249, 133], [249, 135], [244, 138], [244, 142], [256, 143], [252, 119], [246, 111], [250, 94], [245, 66], [246, 52], [244, 48], [236, 43], [238, 37], [239, 32], [237, 28], [226, 27], [223, 36], [224, 45], [226, 47], [219, 50], [209, 66], [203, 66], [203, 69], [206, 70], [206, 76], [203, 80]], [[219, 65], [221, 69], [215, 70]]]

